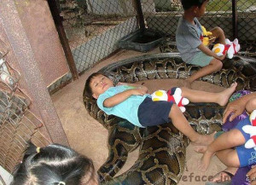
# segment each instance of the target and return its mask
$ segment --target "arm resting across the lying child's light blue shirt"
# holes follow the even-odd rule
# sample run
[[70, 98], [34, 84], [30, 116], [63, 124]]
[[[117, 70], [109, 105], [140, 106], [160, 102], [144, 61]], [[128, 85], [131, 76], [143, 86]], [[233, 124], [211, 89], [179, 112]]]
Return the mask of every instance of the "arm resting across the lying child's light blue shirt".
[[120, 102], [125, 101], [127, 98], [129, 98], [131, 95], [145, 95], [147, 92], [143, 89], [131, 89], [131, 90], [125, 90], [124, 92], [121, 92], [119, 94], [113, 95], [109, 98], [107, 98], [103, 102], [104, 107], [114, 107], [118, 105]]

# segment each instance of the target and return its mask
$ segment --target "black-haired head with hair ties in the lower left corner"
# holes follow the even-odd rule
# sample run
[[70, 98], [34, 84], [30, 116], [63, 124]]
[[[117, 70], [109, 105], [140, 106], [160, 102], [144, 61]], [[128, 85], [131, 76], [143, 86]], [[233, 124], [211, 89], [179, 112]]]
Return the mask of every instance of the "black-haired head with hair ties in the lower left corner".
[[92, 161], [58, 144], [39, 148], [30, 143], [13, 175], [11, 185], [98, 184]]

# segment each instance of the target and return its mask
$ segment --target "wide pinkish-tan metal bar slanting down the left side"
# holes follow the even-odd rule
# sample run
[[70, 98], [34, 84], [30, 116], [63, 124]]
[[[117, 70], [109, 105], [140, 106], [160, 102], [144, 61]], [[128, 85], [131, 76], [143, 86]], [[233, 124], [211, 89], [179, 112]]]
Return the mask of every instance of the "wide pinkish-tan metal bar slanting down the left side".
[[20, 14], [18, 14], [19, 11], [15, 1], [2, 1], [3, 3], [0, 6], [0, 20], [4, 33], [9, 40], [10, 48], [12, 49], [11, 58], [15, 59], [12, 63], [19, 65], [23, 87], [25, 87], [28, 96], [32, 98], [31, 110], [33, 110], [35, 115], [39, 115], [41, 119], [44, 119], [42, 130], [50, 137], [51, 142], [69, 146], [61, 120], [56, 113], [54, 104], [42, 78], [43, 75], [39, 69], [35, 52], [20, 20]]

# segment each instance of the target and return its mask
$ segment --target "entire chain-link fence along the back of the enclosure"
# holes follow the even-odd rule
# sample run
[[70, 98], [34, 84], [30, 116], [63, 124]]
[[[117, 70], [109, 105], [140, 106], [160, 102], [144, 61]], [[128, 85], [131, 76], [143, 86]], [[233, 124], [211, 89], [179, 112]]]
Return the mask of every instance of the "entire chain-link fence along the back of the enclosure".
[[[120, 38], [139, 28], [141, 24], [138, 23], [141, 22], [137, 19], [136, 3], [142, 7], [146, 28], [160, 33], [171, 42], [175, 42], [177, 22], [183, 14], [180, 0], [55, 1], [80, 74], [118, 49]], [[235, 15], [236, 27], [233, 24]], [[237, 32], [241, 54], [256, 55], [255, 0], [209, 0], [206, 14], [199, 20], [207, 31], [220, 26], [230, 40], [234, 39], [234, 32]], [[51, 85], [49, 91], [71, 79], [69, 73]]]

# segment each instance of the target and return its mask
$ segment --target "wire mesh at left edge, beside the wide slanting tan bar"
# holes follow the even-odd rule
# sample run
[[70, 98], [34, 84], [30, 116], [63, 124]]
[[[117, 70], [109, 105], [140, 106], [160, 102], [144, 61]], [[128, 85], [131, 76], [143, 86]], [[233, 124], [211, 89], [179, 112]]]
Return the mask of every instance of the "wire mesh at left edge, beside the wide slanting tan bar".
[[9, 49], [0, 40], [0, 165], [15, 169], [28, 141], [44, 146], [37, 133], [42, 123], [30, 112], [30, 98], [20, 89], [20, 72], [9, 65]]

